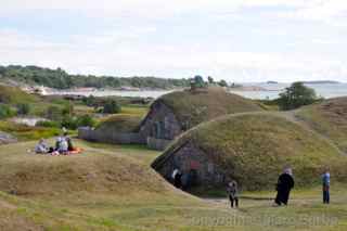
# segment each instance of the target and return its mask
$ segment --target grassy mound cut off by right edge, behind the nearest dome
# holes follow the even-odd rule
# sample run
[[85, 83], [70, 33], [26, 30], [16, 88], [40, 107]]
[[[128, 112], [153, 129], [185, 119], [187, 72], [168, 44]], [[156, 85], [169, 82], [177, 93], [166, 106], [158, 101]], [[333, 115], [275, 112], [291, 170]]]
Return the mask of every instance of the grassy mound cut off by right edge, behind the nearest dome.
[[347, 153], [347, 98], [304, 107], [296, 115]]

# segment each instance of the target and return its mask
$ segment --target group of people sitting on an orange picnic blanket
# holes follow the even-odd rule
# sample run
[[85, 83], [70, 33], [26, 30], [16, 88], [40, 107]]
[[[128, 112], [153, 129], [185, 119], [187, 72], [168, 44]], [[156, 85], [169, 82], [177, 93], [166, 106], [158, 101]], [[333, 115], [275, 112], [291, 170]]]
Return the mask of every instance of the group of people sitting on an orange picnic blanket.
[[65, 129], [63, 129], [62, 134], [56, 138], [54, 146], [49, 146], [44, 139], [40, 139], [35, 146], [36, 154], [68, 155], [79, 153], [80, 151], [80, 149], [74, 146], [73, 140]]

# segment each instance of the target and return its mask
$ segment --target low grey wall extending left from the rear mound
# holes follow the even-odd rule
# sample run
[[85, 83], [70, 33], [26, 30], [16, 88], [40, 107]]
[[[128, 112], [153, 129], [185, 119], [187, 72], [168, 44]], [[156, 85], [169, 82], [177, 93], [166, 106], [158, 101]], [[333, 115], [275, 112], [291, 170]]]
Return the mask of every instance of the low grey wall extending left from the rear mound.
[[145, 144], [146, 140], [140, 133], [134, 132], [117, 132], [98, 130], [89, 127], [82, 127], [78, 129], [78, 138], [101, 142], [101, 143], [116, 143], [116, 144]]

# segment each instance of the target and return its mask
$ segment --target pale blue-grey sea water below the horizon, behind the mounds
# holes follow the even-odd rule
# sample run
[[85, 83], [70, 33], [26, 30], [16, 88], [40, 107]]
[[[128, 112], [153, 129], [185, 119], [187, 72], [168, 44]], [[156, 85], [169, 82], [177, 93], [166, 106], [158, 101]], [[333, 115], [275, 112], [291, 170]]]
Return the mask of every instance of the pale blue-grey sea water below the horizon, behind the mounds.
[[[245, 87], [259, 87], [262, 90], [230, 90], [231, 93], [240, 94], [242, 97], [253, 100], [273, 100], [279, 98], [279, 94], [290, 87], [291, 84], [242, 84]], [[324, 99], [347, 97], [347, 84], [307, 84], [316, 90], [319, 97]], [[170, 93], [175, 90], [95, 90], [95, 91], [54, 91], [48, 94], [78, 94], [78, 95], [94, 95], [94, 97], [140, 97], [140, 98], [159, 98], [163, 94]]]

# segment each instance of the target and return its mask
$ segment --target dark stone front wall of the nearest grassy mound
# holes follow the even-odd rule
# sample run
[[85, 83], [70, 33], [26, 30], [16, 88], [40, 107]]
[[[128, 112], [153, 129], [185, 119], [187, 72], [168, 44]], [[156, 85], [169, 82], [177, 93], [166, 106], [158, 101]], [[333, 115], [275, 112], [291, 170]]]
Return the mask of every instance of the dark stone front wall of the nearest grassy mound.
[[156, 169], [164, 178], [171, 181], [172, 171], [178, 168], [182, 174], [196, 172], [197, 185], [209, 188], [223, 187], [227, 182], [224, 172], [207, 155], [191, 142], [171, 153]]

